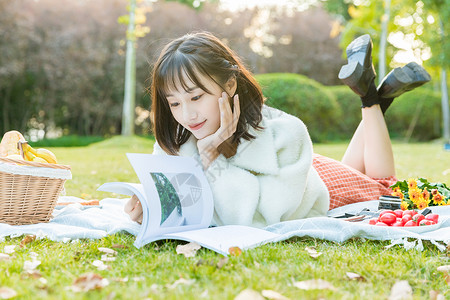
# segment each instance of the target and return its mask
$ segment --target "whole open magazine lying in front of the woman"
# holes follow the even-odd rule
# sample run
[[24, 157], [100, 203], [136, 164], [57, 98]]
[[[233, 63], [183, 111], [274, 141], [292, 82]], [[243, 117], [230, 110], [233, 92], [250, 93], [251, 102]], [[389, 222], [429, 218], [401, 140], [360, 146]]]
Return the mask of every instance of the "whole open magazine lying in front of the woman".
[[239, 225], [209, 227], [214, 201], [206, 176], [190, 157], [127, 153], [141, 183], [109, 182], [98, 190], [136, 195], [143, 210], [134, 245], [178, 239], [227, 255], [231, 247], [244, 250], [276, 240], [280, 235]]

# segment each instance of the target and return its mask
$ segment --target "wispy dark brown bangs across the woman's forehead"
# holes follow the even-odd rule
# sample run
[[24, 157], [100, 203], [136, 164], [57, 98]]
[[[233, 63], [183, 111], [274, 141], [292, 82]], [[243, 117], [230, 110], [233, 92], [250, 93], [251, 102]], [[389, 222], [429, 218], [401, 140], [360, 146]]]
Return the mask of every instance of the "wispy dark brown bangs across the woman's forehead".
[[198, 87], [210, 94], [211, 92], [201, 82], [199, 74], [214, 80], [207, 72], [204, 72], [201, 63], [195, 58], [188, 58], [177, 51], [174, 55], [166, 58], [166, 61], [161, 64], [159, 72], [155, 74], [158, 93], [167, 98], [167, 95], [173, 91], [179, 91], [180, 88], [185, 92], [191, 92], [192, 88]]

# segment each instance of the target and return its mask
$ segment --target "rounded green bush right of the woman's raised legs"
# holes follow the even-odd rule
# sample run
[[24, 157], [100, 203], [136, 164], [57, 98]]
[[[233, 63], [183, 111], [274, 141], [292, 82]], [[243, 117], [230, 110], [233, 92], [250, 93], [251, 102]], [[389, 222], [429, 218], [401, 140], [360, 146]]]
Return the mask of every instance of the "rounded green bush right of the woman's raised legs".
[[421, 87], [396, 98], [386, 112], [393, 137], [429, 141], [441, 137], [440, 95]]

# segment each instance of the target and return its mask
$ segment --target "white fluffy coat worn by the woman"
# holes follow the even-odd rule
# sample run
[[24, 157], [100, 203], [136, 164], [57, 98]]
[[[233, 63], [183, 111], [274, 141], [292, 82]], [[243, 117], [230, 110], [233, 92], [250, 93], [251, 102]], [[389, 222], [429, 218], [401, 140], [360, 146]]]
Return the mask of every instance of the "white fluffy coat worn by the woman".
[[[264, 106], [263, 130], [242, 140], [236, 154], [220, 155], [206, 170], [214, 195], [215, 225], [264, 227], [280, 221], [325, 216], [328, 190], [312, 166], [313, 148], [306, 126], [287, 113]], [[164, 154], [155, 143], [154, 154]], [[180, 155], [199, 158], [196, 139]]]

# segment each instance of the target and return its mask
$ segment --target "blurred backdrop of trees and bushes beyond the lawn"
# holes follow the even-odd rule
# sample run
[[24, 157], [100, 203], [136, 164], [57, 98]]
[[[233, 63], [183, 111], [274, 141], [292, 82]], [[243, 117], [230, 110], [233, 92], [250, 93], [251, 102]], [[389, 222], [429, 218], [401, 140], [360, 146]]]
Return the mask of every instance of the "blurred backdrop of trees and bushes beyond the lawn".
[[[0, 0], [0, 132], [34, 142], [121, 134], [132, 2]], [[360, 101], [337, 74], [345, 47], [369, 33], [379, 75], [416, 61], [433, 78], [392, 105], [392, 137], [448, 140], [448, 0], [138, 0], [133, 11], [133, 134], [152, 134], [147, 88], [162, 46], [207, 30], [243, 58], [267, 103], [302, 118], [315, 142], [348, 139]]]

